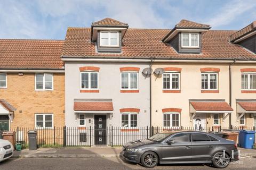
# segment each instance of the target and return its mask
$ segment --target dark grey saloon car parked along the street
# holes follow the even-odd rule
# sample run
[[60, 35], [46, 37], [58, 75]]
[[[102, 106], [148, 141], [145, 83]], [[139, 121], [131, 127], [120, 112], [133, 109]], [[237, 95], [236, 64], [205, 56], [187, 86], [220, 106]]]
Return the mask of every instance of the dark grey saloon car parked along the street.
[[225, 168], [239, 157], [234, 141], [200, 131], [163, 131], [126, 143], [122, 155], [127, 161], [145, 167], [202, 163]]

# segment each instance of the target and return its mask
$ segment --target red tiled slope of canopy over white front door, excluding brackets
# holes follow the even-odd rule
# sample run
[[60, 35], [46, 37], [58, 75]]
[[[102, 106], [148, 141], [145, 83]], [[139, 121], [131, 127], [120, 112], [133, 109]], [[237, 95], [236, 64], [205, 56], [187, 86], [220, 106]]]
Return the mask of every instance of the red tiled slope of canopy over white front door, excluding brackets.
[[226, 101], [190, 101], [190, 113], [231, 113]]

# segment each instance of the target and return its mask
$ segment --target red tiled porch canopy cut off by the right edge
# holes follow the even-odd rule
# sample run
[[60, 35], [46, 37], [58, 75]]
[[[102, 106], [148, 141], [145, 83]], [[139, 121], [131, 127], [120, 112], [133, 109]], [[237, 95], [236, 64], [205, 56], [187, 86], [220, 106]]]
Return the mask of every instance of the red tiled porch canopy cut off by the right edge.
[[237, 101], [237, 113], [254, 113], [254, 112], [256, 112], [256, 100]]

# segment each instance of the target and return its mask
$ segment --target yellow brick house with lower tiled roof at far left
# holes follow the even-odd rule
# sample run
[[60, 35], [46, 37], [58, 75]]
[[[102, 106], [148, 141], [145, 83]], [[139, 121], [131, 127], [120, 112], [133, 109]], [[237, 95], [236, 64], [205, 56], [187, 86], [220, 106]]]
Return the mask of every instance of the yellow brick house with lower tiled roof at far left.
[[62, 46], [62, 40], [0, 40], [1, 129], [65, 125]]

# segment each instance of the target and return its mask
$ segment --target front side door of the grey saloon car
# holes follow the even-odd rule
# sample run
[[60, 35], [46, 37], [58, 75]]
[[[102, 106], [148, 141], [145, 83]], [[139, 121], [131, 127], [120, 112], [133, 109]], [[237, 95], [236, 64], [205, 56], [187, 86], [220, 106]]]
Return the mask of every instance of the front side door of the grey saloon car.
[[174, 143], [163, 143], [162, 163], [188, 162], [191, 161], [191, 142], [189, 133], [178, 133], [173, 135], [168, 141]]

